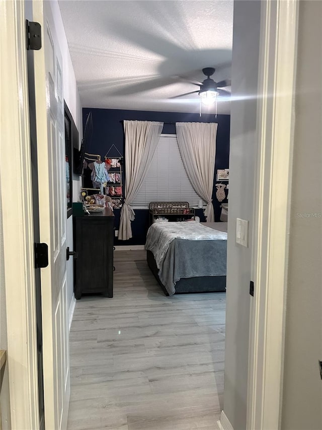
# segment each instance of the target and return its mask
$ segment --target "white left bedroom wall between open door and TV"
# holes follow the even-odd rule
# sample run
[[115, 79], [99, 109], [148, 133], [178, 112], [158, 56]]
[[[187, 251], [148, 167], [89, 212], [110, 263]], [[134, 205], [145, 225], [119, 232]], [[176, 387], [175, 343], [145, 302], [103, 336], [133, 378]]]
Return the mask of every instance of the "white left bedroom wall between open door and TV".
[[[64, 99], [68, 106], [68, 109], [75, 121], [75, 125], [79, 132], [79, 137], [82, 139], [83, 135], [83, 125], [82, 125], [82, 105], [79, 98], [79, 93], [76, 84], [76, 78], [74, 70], [71, 64], [71, 58], [68, 48], [68, 43], [66, 39], [66, 34], [61, 19], [61, 13], [59, 9], [59, 4], [57, 0], [50, 2], [51, 11], [55, 22], [56, 34], [58, 36], [59, 48], [62, 55], [63, 64], [63, 93]], [[80, 191], [81, 182], [79, 176], [73, 175], [73, 201], [77, 201], [77, 197]], [[73, 236], [72, 236], [72, 218], [67, 220], [67, 247], [73, 250]], [[72, 258], [67, 263], [67, 299], [68, 308], [72, 315], [74, 308], [74, 295], [73, 295], [73, 265]], [[69, 317], [71, 317], [69, 315]]]

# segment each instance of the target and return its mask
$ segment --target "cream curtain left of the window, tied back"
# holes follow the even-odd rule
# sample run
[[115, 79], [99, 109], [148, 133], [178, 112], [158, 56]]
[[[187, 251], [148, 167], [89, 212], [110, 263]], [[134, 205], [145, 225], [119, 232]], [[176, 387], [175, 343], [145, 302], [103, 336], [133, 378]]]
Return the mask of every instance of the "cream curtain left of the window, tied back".
[[120, 240], [132, 237], [131, 221], [135, 215], [131, 203], [146, 176], [162, 129], [163, 122], [124, 121], [125, 200], [121, 209]]

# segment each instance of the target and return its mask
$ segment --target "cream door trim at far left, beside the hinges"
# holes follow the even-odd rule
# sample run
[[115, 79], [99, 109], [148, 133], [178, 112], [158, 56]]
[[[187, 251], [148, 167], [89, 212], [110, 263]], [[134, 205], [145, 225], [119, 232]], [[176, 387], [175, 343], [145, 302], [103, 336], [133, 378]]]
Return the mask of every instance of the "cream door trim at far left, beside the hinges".
[[3, 17], [0, 187], [11, 424], [12, 428], [37, 430], [36, 298], [24, 2], [0, 2], [0, 10]]

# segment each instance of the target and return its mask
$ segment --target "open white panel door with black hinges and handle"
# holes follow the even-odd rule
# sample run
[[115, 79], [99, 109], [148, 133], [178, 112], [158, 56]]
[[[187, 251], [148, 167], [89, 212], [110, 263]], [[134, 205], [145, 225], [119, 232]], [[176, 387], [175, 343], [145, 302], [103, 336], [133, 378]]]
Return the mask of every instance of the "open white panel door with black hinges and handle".
[[42, 27], [34, 71], [40, 241], [48, 244], [49, 261], [41, 269], [45, 426], [60, 430], [66, 428], [70, 393], [62, 58], [50, 2], [33, 0], [33, 20]]

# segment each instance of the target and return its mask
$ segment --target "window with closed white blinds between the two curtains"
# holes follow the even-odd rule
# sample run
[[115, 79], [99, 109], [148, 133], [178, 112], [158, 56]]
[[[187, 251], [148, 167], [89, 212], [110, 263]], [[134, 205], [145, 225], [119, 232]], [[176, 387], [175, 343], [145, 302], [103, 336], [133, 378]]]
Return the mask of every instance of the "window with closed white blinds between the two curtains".
[[145, 180], [131, 206], [143, 209], [148, 208], [150, 202], [168, 201], [197, 206], [199, 200], [183, 166], [177, 136], [161, 135]]

